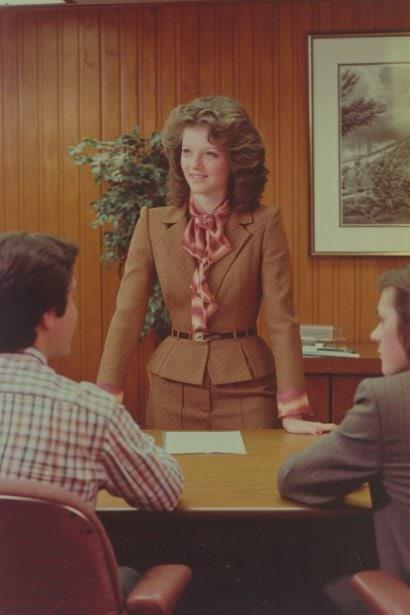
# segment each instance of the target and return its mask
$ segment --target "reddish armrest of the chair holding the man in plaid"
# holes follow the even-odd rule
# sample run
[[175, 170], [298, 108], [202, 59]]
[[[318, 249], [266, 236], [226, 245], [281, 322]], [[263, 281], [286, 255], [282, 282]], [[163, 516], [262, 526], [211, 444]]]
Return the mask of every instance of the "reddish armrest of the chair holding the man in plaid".
[[126, 599], [130, 615], [171, 615], [192, 577], [182, 564], [163, 564], [150, 568]]

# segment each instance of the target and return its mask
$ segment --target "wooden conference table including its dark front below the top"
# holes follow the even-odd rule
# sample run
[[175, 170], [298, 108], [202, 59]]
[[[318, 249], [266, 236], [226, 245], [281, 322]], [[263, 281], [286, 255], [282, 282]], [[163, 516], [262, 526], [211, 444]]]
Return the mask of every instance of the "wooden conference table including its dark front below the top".
[[[162, 443], [161, 432], [148, 433]], [[374, 567], [368, 489], [334, 509], [282, 499], [276, 486], [282, 461], [325, 436], [282, 430], [242, 436], [246, 455], [176, 456], [185, 488], [174, 511], [138, 511], [101, 492], [97, 512], [122, 564], [141, 571], [160, 562], [191, 566], [183, 615], [316, 612], [298, 611], [289, 600], [350, 571], [352, 559], [353, 567]]]

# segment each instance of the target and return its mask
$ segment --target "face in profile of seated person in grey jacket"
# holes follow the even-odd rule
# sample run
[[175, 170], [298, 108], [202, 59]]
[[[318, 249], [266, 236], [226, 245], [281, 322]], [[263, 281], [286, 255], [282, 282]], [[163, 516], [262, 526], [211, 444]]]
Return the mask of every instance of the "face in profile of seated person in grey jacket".
[[388, 286], [383, 289], [377, 306], [379, 324], [370, 335], [370, 339], [378, 344], [385, 376], [392, 376], [410, 368], [409, 358], [397, 332], [399, 316], [395, 308], [395, 298], [395, 288]]

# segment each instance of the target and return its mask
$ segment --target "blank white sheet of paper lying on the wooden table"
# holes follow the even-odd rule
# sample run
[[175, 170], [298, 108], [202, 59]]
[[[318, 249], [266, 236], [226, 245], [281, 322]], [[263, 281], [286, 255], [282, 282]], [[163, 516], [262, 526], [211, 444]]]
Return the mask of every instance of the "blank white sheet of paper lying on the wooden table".
[[232, 453], [246, 455], [240, 431], [167, 431], [165, 450], [183, 453]]

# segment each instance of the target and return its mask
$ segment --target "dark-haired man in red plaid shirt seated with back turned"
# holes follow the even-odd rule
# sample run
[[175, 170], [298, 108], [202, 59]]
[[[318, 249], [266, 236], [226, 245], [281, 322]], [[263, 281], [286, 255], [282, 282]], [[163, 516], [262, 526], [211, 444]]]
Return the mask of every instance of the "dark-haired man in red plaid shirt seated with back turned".
[[177, 461], [112, 395], [47, 365], [70, 351], [77, 252], [57, 237], [0, 234], [0, 477], [53, 483], [91, 505], [107, 489], [137, 508], [172, 510]]

